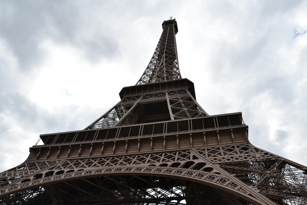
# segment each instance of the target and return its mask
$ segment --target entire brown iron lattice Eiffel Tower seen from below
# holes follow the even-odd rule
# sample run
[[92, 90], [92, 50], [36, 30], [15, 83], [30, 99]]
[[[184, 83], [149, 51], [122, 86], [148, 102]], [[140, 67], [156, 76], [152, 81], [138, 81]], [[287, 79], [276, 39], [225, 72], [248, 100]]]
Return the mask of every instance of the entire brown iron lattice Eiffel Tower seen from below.
[[209, 116], [181, 77], [175, 19], [120, 101], [83, 130], [40, 135], [0, 174], [1, 204], [307, 204], [307, 168], [253, 146], [242, 113]]

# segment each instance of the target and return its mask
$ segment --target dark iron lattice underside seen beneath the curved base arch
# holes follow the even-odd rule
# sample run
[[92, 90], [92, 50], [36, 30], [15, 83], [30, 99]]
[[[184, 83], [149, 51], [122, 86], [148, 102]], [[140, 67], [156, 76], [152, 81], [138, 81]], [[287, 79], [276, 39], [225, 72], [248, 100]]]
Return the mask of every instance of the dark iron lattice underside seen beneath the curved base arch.
[[[28, 193], [36, 195], [28, 197]], [[200, 194], [208, 193], [199, 197]], [[214, 203], [212, 203], [212, 201]], [[3, 204], [251, 204], [216, 188], [154, 176], [105, 176], [56, 183], [13, 194]]]

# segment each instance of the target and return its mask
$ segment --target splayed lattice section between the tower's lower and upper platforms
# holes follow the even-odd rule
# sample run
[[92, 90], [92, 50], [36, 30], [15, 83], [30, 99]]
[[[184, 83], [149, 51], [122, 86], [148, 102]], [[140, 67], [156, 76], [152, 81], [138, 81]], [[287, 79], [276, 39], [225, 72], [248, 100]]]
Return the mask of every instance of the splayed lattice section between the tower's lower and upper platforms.
[[[150, 104], [156, 104], [156, 106], [147, 106]], [[123, 98], [85, 129], [186, 119], [199, 116], [208, 116], [208, 114], [200, 107], [188, 90], [178, 90]]]

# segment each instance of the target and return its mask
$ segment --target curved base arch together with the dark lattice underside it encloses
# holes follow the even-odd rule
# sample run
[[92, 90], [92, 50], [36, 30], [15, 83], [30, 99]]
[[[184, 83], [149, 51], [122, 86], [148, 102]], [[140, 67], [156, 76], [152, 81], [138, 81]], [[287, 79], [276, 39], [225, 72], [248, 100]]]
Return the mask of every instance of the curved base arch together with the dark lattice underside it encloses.
[[78, 170], [33, 178], [11, 190], [0, 204], [274, 204], [227, 176], [169, 167]]

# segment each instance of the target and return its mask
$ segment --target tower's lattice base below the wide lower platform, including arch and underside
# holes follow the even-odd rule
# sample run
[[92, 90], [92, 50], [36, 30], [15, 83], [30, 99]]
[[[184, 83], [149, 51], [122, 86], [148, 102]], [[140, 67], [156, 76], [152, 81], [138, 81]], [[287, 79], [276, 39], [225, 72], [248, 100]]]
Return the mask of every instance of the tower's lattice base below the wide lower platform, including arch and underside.
[[27, 161], [1, 173], [0, 202], [306, 204], [306, 170], [251, 144]]

